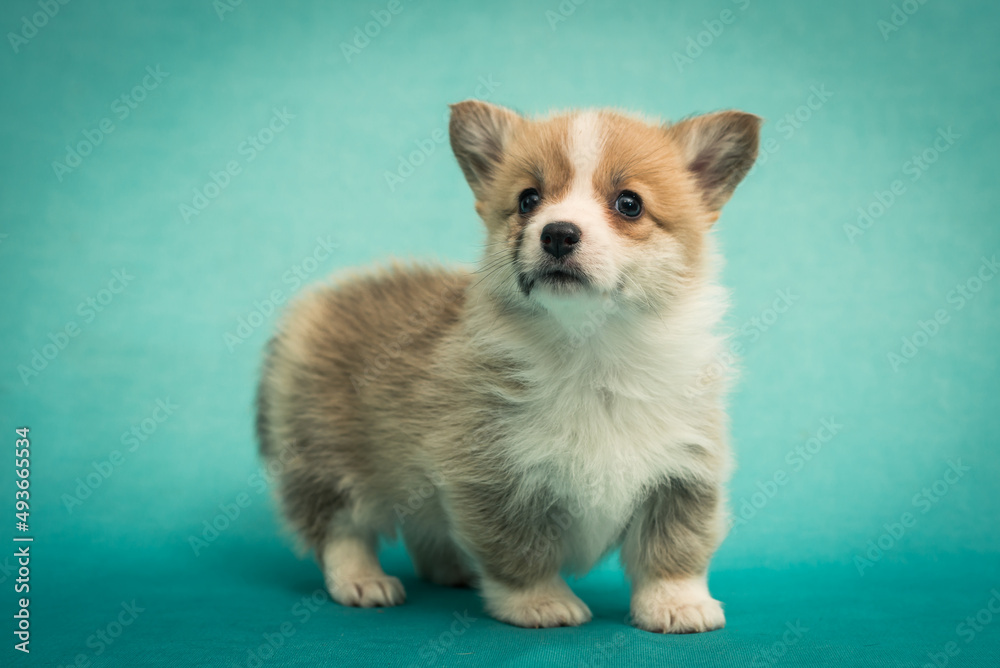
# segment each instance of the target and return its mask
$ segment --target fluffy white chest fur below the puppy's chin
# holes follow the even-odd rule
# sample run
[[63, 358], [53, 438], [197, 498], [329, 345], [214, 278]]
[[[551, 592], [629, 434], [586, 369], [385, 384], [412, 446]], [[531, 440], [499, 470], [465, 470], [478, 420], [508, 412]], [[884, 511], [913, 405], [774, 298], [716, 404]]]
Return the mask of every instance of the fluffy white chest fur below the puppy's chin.
[[505, 455], [525, 501], [540, 493], [557, 500], [550, 521], [571, 570], [589, 568], [607, 551], [653, 486], [712, 475], [691, 444], [724, 447], [704, 423], [717, 397], [691, 392], [720, 340], [665, 327], [659, 318], [611, 318], [569, 350], [555, 336], [518, 351], [530, 358], [519, 378], [527, 389], [503, 425]]

